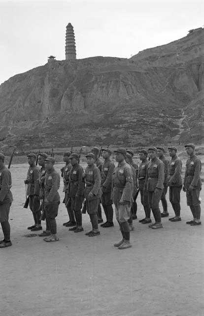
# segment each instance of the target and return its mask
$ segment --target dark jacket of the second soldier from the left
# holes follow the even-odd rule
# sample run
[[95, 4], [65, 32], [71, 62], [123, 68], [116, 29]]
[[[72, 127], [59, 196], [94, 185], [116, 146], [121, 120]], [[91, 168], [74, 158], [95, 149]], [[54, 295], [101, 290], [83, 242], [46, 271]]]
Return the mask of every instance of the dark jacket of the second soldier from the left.
[[27, 173], [27, 195], [28, 196], [39, 196], [39, 168], [37, 166], [29, 167]]

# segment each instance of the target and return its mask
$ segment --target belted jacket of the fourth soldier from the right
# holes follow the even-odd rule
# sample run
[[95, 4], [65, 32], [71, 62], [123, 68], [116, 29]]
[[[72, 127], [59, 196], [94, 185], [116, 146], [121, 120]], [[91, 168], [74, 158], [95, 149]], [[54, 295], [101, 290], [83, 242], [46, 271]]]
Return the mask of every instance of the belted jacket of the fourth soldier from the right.
[[145, 186], [149, 192], [153, 192], [156, 188], [164, 189], [164, 163], [154, 158], [149, 161], [147, 166], [147, 174]]

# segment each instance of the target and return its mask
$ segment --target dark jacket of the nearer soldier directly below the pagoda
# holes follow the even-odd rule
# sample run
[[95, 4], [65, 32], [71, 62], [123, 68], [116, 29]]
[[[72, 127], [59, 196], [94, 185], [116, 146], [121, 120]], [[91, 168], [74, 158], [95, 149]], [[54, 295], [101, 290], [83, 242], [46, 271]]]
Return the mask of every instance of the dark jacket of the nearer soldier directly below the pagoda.
[[69, 172], [69, 197], [84, 195], [83, 168], [78, 163], [72, 166]]

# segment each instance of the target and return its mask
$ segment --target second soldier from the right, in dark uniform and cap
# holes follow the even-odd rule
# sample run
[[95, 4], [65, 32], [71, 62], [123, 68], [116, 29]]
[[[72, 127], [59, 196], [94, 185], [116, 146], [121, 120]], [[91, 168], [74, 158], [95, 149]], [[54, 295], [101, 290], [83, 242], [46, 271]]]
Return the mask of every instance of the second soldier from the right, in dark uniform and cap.
[[170, 203], [174, 210], [175, 216], [169, 218], [171, 222], [181, 221], [180, 217], [180, 192], [182, 189], [182, 179], [181, 179], [181, 167], [182, 161], [176, 155], [177, 149], [174, 146], [168, 148], [171, 157], [170, 160], [170, 174], [167, 182], [169, 187]]

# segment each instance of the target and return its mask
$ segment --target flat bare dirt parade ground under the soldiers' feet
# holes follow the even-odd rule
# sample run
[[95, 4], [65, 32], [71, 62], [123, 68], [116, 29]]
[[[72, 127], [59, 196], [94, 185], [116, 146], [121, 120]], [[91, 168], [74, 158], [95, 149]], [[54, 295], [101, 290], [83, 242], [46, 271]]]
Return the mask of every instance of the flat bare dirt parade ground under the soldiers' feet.
[[[56, 170], [62, 165], [56, 164]], [[101, 236], [87, 237], [91, 225], [85, 214], [84, 232], [69, 232], [62, 226], [68, 220], [62, 203], [57, 217], [60, 241], [46, 243], [43, 237], [24, 237], [33, 224], [31, 211], [23, 208], [27, 170], [27, 163], [11, 166], [13, 245], [0, 249], [0, 316], [204, 315], [204, 218], [201, 226], [186, 225], [192, 216], [184, 192], [182, 221], [164, 218], [164, 228], [152, 230], [135, 220], [133, 247], [127, 250], [113, 246], [121, 239], [115, 220], [113, 228], [100, 229]], [[61, 179], [61, 200], [62, 191]], [[141, 219], [139, 197], [137, 205]]]

